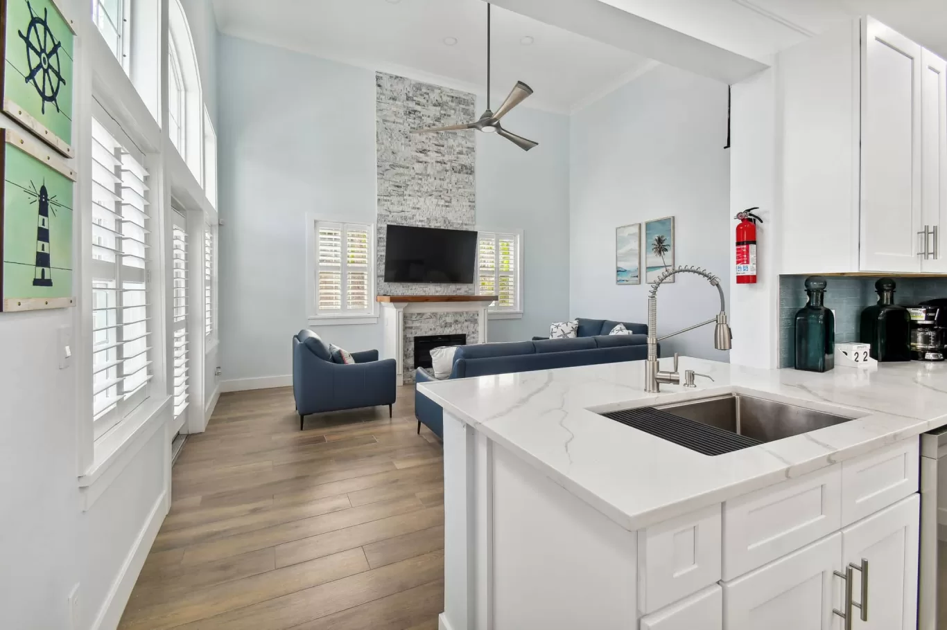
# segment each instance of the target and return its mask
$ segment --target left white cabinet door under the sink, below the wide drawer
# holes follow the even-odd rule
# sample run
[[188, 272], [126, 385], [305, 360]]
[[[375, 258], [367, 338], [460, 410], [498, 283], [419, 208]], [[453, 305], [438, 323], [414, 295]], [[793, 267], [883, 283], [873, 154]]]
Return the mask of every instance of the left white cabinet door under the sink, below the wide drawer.
[[840, 601], [842, 535], [724, 583], [724, 630], [830, 630]]

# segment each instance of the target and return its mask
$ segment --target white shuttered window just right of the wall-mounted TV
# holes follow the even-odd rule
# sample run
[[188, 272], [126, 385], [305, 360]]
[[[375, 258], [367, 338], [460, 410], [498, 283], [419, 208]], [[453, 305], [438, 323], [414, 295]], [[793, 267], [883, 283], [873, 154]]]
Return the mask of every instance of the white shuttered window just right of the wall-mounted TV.
[[480, 232], [477, 235], [477, 283], [480, 295], [498, 295], [492, 312], [520, 311], [520, 236]]

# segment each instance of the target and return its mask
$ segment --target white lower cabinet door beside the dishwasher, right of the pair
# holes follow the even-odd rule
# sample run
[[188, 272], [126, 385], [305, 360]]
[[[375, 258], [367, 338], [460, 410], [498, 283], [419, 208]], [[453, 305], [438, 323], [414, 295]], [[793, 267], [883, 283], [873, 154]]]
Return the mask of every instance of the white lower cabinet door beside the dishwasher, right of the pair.
[[[920, 495], [912, 495], [842, 530], [846, 566], [867, 560], [867, 621], [852, 608], [859, 630], [914, 630], [918, 626]], [[852, 599], [861, 602], [861, 571], [853, 571]]]

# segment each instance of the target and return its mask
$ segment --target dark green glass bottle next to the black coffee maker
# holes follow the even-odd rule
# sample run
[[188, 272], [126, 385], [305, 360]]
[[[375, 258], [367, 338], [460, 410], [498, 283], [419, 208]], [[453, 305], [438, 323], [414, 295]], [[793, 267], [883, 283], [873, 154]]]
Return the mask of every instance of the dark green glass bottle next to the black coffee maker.
[[862, 311], [858, 341], [871, 344], [871, 358], [877, 361], [911, 360], [911, 316], [894, 304], [894, 289], [893, 278], [879, 278], [878, 304]]

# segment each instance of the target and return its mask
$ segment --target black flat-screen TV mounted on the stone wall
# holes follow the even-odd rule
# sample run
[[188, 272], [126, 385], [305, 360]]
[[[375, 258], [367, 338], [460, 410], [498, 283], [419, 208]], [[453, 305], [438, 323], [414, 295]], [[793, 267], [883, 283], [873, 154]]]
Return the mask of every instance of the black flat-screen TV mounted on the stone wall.
[[469, 285], [475, 265], [476, 232], [388, 225], [385, 282]]

